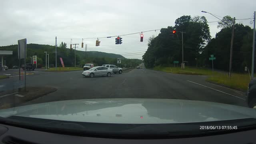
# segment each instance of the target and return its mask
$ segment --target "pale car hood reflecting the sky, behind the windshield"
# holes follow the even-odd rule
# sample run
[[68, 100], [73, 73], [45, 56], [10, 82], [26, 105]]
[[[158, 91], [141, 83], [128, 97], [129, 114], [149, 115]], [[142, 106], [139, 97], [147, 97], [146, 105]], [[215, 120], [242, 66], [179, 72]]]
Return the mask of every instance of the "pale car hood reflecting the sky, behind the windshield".
[[74, 122], [167, 124], [256, 118], [256, 109], [172, 99], [82, 99], [0, 110], [1, 117], [25, 116]]

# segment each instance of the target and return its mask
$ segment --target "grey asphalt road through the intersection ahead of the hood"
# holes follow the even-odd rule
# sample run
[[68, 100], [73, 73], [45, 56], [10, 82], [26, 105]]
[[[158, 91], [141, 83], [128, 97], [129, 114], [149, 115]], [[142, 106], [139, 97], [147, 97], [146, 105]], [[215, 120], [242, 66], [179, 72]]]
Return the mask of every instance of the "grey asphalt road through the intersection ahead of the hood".
[[[244, 92], [208, 83], [207, 76], [149, 69], [134, 69], [111, 77], [85, 78], [81, 74], [82, 71], [38, 71], [27, 75], [28, 86], [51, 86], [58, 90], [25, 104], [88, 98], [169, 98], [246, 106]], [[0, 86], [17, 81], [18, 76], [0, 80]]]

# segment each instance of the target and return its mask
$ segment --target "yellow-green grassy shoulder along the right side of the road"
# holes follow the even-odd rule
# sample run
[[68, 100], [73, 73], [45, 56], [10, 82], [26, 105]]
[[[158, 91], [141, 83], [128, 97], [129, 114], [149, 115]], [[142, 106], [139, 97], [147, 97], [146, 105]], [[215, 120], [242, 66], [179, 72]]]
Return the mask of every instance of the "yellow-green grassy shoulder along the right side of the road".
[[208, 82], [213, 82], [221, 86], [246, 91], [250, 77], [248, 74], [232, 73], [231, 78], [228, 77], [228, 73], [220, 73], [205, 68], [193, 68], [187, 67], [182, 70], [180, 67], [154, 67], [154, 70], [160, 70], [163, 72], [176, 73], [176, 74], [190, 74], [190, 75], [207, 75]]

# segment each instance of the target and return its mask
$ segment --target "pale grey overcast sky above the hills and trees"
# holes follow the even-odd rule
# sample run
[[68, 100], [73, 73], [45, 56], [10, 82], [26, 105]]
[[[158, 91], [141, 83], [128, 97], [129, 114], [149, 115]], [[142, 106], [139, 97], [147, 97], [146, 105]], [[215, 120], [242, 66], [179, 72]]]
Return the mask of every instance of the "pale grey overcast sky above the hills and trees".
[[[183, 15], [205, 16], [208, 22], [217, 21], [207, 11], [217, 16], [230, 15], [237, 19], [252, 18], [256, 10], [255, 0], [2, 0], [0, 5], [0, 46], [17, 44], [27, 38], [28, 44], [55, 45], [62, 41], [70, 47], [79, 44], [82, 38], [118, 36], [147, 30], [174, 26]], [[236, 22], [248, 25], [250, 20]], [[217, 22], [208, 23], [212, 37], [215, 37]], [[122, 44], [115, 45], [115, 38], [86, 39], [88, 51], [122, 54], [126, 58], [142, 58], [147, 49], [147, 40], [158, 31], [122, 36]], [[65, 39], [60, 39], [65, 38]], [[141, 53], [137, 53], [141, 52]], [[133, 54], [129, 54], [133, 53]], [[136, 53], [136, 54], [134, 54]]]

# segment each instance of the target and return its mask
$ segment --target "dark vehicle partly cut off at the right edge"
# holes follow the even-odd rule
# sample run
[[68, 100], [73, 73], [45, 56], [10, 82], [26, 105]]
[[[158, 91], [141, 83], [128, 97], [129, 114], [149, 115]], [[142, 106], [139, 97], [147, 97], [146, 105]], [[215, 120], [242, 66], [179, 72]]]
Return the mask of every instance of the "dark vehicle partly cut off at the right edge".
[[248, 84], [246, 102], [250, 108], [256, 108], [256, 78], [251, 80]]

